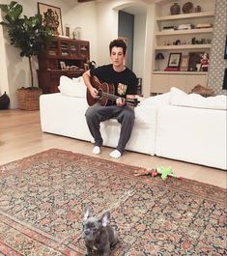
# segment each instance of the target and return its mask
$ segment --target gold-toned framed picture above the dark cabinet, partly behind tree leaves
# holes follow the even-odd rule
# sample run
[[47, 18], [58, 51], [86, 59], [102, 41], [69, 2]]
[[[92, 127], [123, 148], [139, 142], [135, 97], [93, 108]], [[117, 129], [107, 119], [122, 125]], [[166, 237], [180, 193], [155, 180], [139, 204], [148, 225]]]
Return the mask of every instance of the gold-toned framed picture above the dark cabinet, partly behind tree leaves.
[[47, 24], [53, 35], [63, 35], [61, 9], [38, 2], [39, 14], [43, 15], [43, 24]]

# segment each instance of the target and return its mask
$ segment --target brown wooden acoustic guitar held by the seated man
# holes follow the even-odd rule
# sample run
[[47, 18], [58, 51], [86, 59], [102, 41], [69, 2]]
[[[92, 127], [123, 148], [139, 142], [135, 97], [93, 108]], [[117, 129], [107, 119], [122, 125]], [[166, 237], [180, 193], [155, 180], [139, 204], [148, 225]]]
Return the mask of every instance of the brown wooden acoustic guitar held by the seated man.
[[94, 99], [89, 90], [87, 90], [87, 102], [89, 105], [94, 105], [95, 103], [99, 102], [102, 106], [105, 106], [108, 100], [117, 100], [119, 98], [123, 99], [128, 105], [131, 106], [137, 106], [137, 104], [140, 102], [138, 99], [125, 99], [114, 95], [114, 85], [106, 82], [101, 83], [97, 76], [91, 77], [91, 84], [98, 90], [99, 98]]

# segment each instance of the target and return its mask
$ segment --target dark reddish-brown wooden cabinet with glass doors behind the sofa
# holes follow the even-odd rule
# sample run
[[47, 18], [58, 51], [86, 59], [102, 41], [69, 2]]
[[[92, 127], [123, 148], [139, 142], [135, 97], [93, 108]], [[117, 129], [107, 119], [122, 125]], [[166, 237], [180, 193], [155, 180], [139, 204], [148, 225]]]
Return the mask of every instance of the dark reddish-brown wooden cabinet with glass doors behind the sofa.
[[43, 94], [59, 92], [61, 75], [78, 77], [90, 59], [89, 42], [54, 37], [39, 56], [38, 81]]

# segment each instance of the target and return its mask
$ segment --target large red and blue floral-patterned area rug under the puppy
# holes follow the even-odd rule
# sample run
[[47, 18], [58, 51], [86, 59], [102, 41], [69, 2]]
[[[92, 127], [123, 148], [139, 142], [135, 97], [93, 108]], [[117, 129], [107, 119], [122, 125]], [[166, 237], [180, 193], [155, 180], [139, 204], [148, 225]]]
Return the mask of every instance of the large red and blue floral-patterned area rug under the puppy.
[[226, 189], [137, 169], [57, 149], [0, 166], [0, 255], [84, 255], [86, 204], [111, 212], [114, 256], [227, 255]]

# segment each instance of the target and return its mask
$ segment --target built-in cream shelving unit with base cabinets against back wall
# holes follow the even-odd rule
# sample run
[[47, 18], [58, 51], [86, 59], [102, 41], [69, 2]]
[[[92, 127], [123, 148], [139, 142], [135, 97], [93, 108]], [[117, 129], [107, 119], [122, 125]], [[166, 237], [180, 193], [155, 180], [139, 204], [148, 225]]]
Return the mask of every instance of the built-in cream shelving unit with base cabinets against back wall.
[[[175, 3], [181, 6], [181, 14], [170, 14]], [[191, 52], [210, 53], [213, 41], [214, 6], [213, 0], [192, 0], [194, 7], [201, 6], [200, 13], [182, 14], [184, 0], [159, 1], [156, 4], [156, 32], [154, 56], [161, 52], [163, 60], [154, 60], [151, 93], [166, 93], [172, 86], [189, 93], [197, 84], [207, 86], [208, 71], [164, 71], [168, 66], [170, 53], [189, 56]], [[191, 25], [180, 29], [181, 25]]]

